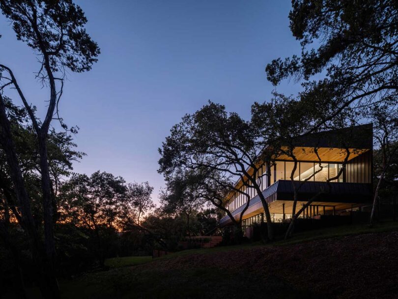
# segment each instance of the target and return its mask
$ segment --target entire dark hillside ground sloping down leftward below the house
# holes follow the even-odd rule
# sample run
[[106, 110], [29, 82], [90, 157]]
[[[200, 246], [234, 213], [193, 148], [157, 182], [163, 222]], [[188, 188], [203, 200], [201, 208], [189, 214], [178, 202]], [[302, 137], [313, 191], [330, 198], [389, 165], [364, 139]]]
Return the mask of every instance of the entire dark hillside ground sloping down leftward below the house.
[[[186, 250], [63, 281], [63, 298], [397, 298], [398, 223]], [[140, 264], [140, 265], [136, 265]], [[32, 296], [34, 298], [34, 296]]]

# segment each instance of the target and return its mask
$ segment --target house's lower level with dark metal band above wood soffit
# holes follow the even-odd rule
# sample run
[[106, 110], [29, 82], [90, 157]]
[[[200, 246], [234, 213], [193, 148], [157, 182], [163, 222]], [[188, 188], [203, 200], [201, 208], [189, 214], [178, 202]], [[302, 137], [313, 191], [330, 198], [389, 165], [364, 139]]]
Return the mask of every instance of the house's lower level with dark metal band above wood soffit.
[[[300, 184], [300, 182], [295, 182]], [[293, 209], [293, 185], [290, 180], [278, 180], [262, 193], [271, 213], [273, 222], [280, 222], [291, 218]], [[350, 210], [361, 209], [369, 205], [372, 200], [372, 185], [370, 183], [326, 182], [307, 181], [302, 183], [298, 192], [296, 212], [308, 203], [314, 195], [318, 195], [307, 207], [300, 217], [316, 218], [319, 215], [339, 215]], [[240, 217], [245, 205], [232, 212], [235, 219]], [[266, 222], [264, 208], [259, 196], [252, 198], [249, 207], [243, 213], [243, 226], [259, 222]], [[220, 220], [220, 226], [232, 224], [232, 220], [225, 216]]]

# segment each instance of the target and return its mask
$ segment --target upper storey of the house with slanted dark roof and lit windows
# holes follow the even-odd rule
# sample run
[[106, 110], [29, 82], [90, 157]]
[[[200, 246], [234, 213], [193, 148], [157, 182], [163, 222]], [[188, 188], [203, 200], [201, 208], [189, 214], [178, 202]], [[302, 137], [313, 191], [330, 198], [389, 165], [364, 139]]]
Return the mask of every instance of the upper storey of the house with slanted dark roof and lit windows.
[[[345, 170], [338, 179], [331, 182], [348, 183], [372, 183], [372, 124], [360, 125], [350, 128], [346, 138], [350, 138], [349, 157]], [[323, 134], [313, 134], [297, 140], [297, 146], [294, 149], [294, 155], [298, 160], [293, 179], [297, 181], [326, 181], [339, 174], [342, 167], [346, 150], [337, 146], [334, 142], [340, 138], [340, 132], [329, 131]], [[339, 136], [339, 137], [338, 137]], [[340, 144], [340, 143], [339, 143]], [[317, 149], [317, 154], [314, 148]], [[321, 164], [319, 164], [319, 158]], [[265, 190], [278, 180], [290, 180], [294, 167], [291, 157], [280, 155], [270, 163], [265, 161], [258, 171], [257, 183], [261, 190]], [[250, 171], [250, 170], [249, 170]], [[249, 183], [249, 185], [252, 185]], [[243, 192], [248, 193], [251, 198], [255, 197], [254, 188], [247, 187], [240, 180], [236, 187]], [[225, 198], [225, 206], [230, 211], [238, 209], [247, 202], [247, 197], [237, 191], [230, 192]]]

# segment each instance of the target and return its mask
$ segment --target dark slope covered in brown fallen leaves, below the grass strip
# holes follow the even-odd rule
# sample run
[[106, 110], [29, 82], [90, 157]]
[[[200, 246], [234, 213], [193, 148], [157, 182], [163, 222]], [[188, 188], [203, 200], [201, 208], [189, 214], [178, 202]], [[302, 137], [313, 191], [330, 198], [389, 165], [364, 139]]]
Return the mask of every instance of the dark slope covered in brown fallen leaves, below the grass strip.
[[217, 268], [248, 273], [253, 284], [277, 277], [294, 290], [331, 298], [398, 298], [398, 232], [185, 255], [143, 267]]

